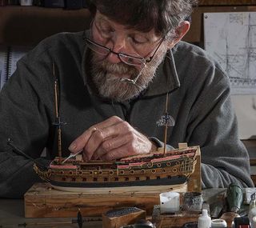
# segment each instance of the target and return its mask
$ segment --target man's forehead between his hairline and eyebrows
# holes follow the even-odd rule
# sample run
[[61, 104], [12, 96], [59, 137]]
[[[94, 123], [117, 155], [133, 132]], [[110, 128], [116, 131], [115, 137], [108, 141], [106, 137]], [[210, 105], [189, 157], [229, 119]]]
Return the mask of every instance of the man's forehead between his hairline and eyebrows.
[[114, 22], [113, 20], [108, 18], [106, 15], [101, 14], [98, 10], [95, 14], [95, 20], [97, 20], [99, 22], [106, 22], [106, 24], [109, 24], [110, 26], [118, 28], [118, 30], [126, 30], [127, 32], [133, 32], [135, 34], [141, 34], [141, 35], [146, 36], [147, 38], [150, 38], [152, 40], [158, 40], [159, 38], [161, 38], [159, 35], [157, 35], [155, 33], [154, 29], [150, 30], [149, 32], [142, 32], [142, 31], [139, 31], [139, 30], [134, 30], [134, 29], [130, 28], [130, 26], [125, 26], [125, 25], [122, 25], [118, 22]]

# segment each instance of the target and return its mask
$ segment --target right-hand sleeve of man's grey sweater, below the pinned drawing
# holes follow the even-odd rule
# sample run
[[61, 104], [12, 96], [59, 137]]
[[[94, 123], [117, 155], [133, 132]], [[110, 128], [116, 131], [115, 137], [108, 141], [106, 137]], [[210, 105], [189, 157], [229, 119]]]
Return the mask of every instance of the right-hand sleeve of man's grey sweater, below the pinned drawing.
[[208, 79], [190, 111], [186, 135], [190, 145], [201, 146], [202, 187], [227, 187], [230, 182], [254, 186], [248, 153], [238, 139], [229, 78], [217, 67], [206, 74]]

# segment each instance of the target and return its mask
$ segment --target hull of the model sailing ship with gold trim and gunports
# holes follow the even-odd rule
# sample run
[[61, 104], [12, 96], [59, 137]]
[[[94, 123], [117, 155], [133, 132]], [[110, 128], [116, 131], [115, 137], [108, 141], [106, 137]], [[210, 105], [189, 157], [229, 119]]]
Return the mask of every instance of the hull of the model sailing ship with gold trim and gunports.
[[199, 146], [138, 155], [113, 162], [55, 158], [48, 168], [34, 165], [36, 173], [58, 190], [88, 188], [183, 186], [194, 173]]

